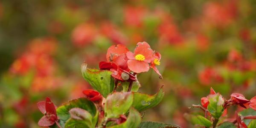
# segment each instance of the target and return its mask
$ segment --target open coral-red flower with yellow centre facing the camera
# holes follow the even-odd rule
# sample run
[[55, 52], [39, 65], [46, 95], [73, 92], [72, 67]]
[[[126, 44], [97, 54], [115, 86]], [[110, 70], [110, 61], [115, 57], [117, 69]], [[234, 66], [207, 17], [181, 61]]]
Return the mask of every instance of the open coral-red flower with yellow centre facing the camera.
[[149, 64], [154, 60], [153, 50], [147, 42], [139, 42], [134, 50], [134, 53], [126, 53], [128, 68], [134, 73], [147, 72]]

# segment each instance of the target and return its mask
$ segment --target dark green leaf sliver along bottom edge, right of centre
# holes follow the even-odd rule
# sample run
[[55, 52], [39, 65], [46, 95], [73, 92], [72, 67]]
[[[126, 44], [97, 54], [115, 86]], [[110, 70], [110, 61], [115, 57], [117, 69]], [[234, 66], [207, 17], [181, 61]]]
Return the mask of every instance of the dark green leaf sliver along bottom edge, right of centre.
[[141, 122], [138, 128], [181, 128], [181, 127], [178, 125], [147, 121], [147, 122]]

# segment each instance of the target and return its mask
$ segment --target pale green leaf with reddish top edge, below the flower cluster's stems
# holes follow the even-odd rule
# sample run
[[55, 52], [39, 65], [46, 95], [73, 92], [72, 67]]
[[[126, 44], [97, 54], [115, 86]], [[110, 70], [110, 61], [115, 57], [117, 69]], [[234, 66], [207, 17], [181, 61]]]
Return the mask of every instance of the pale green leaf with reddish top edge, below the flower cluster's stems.
[[133, 95], [131, 92], [116, 92], [109, 95], [105, 103], [105, 116], [118, 118], [125, 114], [132, 105]]

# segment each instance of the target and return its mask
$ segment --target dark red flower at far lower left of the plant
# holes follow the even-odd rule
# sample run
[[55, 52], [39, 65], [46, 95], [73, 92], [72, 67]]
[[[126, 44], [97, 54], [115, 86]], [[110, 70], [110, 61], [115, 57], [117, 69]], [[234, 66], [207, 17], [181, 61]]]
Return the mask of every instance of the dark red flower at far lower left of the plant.
[[42, 127], [54, 125], [58, 121], [56, 113], [56, 106], [52, 103], [49, 97], [46, 98], [45, 102], [38, 102], [38, 109], [44, 114], [44, 116], [38, 121], [38, 125]]

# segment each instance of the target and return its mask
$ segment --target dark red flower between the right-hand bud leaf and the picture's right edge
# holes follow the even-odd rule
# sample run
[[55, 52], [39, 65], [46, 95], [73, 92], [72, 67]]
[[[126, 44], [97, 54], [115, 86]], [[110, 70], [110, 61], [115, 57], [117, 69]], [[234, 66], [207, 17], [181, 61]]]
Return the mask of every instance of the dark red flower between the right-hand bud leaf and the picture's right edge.
[[246, 108], [244, 104], [250, 102], [248, 99], [244, 98], [243, 94], [240, 94], [240, 93], [232, 93], [230, 96], [233, 104], [239, 104], [243, 108]]

